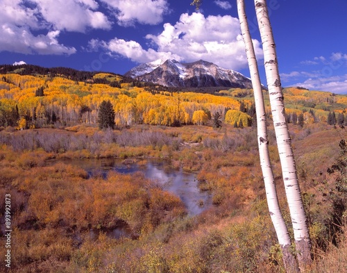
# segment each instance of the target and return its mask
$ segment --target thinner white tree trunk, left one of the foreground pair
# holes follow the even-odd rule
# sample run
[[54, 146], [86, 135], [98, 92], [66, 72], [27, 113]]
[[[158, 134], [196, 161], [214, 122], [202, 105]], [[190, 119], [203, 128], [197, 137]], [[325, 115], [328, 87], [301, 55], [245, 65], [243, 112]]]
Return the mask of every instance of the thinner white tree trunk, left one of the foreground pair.
[[287, 272], [298, 272], [298, 265], [293, 254], [289, 251], [291, 240], [285, 220], [283, 219], [278, 197], [276, 192], [275, 179], [273, 178], [273, 171], [269, 155], [269, 141], [267, 140], [266, 128], [266, 115], [264, 106], [264, 97], [262, 94], [262, 85], [260, 83], [260, 76], [257, 68], [257, 59], [255, 58], [255, 51], [251, 34], [249, 33], [246, 12], [244, 9], [244, 0], [237, 0], [237, 12], [239, 14], [239, 22], [242, 31], [242, 37], [246, 47], [246, 56], [248, 60], [249, 71], [251, 74], [251, 81], [253, 85], [253, 92], [255, 98], [255, 110], [257, 115], [257, 142], [259, 147], [260, 166], [262, 167], [262, 174], [264, 177], [264, 185], [266, 191], [266, 200], [269, 207], [269, 213], [273, 226], [276, 230], [278, 242], [282, 249], [283, 263]]

